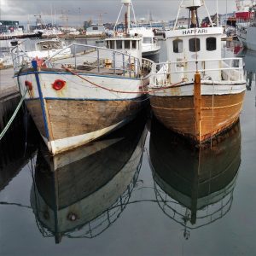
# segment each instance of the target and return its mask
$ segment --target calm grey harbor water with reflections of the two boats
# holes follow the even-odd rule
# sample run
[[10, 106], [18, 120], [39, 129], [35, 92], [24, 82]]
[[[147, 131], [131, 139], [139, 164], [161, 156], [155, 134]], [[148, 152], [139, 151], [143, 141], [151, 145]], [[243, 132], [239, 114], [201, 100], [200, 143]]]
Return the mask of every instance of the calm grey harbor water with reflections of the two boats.
[[205, 148], [145, 111], [53, 159], [23, 108], [0, 144], [0, 255], [256, 255], [256, 53], [236, 54], [240, 121]]

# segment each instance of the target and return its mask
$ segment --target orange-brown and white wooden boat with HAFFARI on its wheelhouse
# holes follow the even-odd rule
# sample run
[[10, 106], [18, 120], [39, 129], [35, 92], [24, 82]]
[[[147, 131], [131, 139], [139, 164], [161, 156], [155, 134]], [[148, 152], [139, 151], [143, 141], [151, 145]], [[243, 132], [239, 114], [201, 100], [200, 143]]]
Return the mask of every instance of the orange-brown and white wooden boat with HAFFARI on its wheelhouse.
[[176, 21], [166, 32], [167, 62], [154, 64], [149, 84], [149, 90], [159, 88], [150, 93], [156, 118], [196, 144], [237, 121], [246, 90], [241, 58], [222, 58], [223, 28], [200, 26], [201, 6], [200, 0], [182, 1], [177, 19], [188, 9], [189, 28], [177, 30]]

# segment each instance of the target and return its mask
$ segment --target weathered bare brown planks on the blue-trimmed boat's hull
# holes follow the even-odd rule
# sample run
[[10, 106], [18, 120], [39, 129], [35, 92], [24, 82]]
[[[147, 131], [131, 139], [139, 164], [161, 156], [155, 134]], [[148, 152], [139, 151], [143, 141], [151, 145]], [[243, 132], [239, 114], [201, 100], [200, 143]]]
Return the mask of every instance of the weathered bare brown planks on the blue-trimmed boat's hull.
[[[47, 100], [51, 140], [97, 131], [135, 115], [142, 102]], [[26, 102], [38, 130], [45, 136], [43, 113], [39, 100]]]

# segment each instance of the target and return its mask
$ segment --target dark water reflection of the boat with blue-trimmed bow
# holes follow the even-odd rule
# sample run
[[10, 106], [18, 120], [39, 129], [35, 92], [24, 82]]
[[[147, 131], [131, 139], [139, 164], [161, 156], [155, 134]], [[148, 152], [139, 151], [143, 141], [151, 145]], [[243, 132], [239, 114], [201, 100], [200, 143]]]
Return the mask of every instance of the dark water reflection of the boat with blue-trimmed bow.
[[146, 136], [145, 121], [136, 119], [69, 153], [50, 158], [40, 149], [31, 205], [43, 236], [59, 243], [63, 236], [92, 238], [108, 229], [137, 184]]

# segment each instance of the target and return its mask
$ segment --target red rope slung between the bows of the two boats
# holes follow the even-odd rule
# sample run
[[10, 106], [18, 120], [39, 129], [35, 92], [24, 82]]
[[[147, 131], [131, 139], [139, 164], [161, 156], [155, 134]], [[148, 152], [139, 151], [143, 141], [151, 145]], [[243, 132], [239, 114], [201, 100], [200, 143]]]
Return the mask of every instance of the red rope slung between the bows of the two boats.
[[154, 91], [166, 90], [166, 89], [168, 89], [168, 88], [175, 87], [175, 86], [177, 86], [177, 85], [179, 85], [179, 84], [182, 84], [182, 83], [186, 80], [186, 79], [182, 79], [182, 81], [181, 81], [181, 82], [178, 82], [177, 84], [171, 84], [171, 85], [169, 85], [169, 86], [160, 87], [160, 88], [155, 89], [155, 90], [143, 90], [143, 91], [113, 90], [113, 89], [108, 89], [107, 87], [104, 87], [104, 86], [102, 86], [102, 85], [100, 85], [100, 84], [93, 83], [93, 82], [91, 82], [91, 81], [88, 80], [88, 79], [84, 79], [84, 77], [82, 77], [82, 76], [79, 75], [78, 73], [73, 72], [71, 69], [69, 69], [68, 67], [65, 67], [64, 65], [62, 65], [61, 67], [62, 67], [63, 69], [65, 69], [67, 72], [72, 73], [73, 75], [79, 77], [79, 79], [83, 79], [84, 81], [86, 81], [86, 82], [88, 82], [88, 83], [90, 83], [90, 84], [93, 84], [93, 85], [95, 85], [96, 87], [99, 87], [99, 88], [101, 88], [101, 89], [103, 89], [103, 90], [108, 90], [108, 91], [117, 92], [117, 93], [128, 93], [128, 94], [131, 94], [131, 93], [136, 93], [136, 94], [137, 94], [137, 93], [140, 93], [140, 94], [148, 94], [148, 93], [151, 93], [151, 92], [154, 92]]

